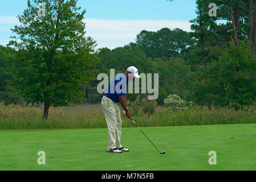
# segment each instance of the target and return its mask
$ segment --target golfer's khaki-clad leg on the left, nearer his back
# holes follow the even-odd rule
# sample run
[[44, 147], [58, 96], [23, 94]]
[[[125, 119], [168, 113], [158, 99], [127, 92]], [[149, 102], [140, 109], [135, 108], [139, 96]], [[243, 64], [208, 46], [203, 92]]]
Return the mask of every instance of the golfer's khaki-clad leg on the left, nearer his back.
[[108, 126], [107, 151], [116, 148], [116, 105], [115, 102], [107, 97], [103, 97], [101, 100], [101, 107]]

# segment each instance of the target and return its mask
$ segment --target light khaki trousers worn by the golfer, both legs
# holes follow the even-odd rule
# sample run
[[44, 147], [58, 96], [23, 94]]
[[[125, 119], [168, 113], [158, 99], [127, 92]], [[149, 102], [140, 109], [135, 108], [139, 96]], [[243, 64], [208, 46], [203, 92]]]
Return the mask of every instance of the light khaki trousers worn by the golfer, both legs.
[[121, 127], [122, 121], [120, 117], [119, 106], [111, 98], [103, 96], [101, 99], [101, 107], [105, 114], [108, 126], [108, 147], [107, 150], [113, 148], [121, 148]]

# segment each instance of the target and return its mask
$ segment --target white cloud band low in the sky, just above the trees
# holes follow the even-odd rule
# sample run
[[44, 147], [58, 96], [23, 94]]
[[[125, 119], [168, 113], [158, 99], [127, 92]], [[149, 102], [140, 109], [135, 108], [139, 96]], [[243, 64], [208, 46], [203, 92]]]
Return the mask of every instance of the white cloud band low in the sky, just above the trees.
[[[130, 42], [135, 42], [136, 35], [142, 30], [157, 31], [161, 28], [181, 28], [191, 31], [188, 21], [181, 20], [105, 20], [84, 19], [86, 23], [86, 36], [91, 36], [97, 42], [97, 48], [108, 47], [110, 49], [121, 47]], [[0, 42], [11, 35], [10, 27], [19, 24], [14, 16], [0, 16]], [[9, 34], [6, 34], [7, 31]], [[2, 35], [1, 35], [2, 34]]]

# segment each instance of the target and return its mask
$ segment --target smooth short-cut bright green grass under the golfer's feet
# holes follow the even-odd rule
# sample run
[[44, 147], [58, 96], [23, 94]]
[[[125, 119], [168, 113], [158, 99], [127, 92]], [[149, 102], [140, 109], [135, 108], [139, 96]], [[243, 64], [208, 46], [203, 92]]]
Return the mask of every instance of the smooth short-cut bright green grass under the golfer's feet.
[[[0, 131], [0, 170], [255, 170], [256, 124], [123, 128], [130, 148], [107, 153], [107, 129]], [[37, 163], [46, 152], [46, 165]], [[209, 165], [209, 151], [217, 164]]]

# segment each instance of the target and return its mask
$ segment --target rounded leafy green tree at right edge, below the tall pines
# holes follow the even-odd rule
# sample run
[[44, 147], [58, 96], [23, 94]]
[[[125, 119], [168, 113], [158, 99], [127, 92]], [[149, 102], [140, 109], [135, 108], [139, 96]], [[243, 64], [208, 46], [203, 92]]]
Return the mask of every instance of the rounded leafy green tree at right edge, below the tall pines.
[[[202, 77], [201, 69], [200, 76]], [[235, 109], [252, 105], [256, 100], [256, 57], [250, 44], [230, 44], [220, 57], [206, 67], [207, 82], [197, 82], [194, 98], [197, 104], [228, 106]]]

